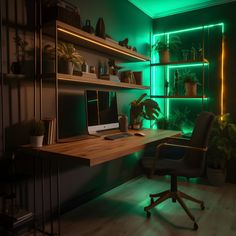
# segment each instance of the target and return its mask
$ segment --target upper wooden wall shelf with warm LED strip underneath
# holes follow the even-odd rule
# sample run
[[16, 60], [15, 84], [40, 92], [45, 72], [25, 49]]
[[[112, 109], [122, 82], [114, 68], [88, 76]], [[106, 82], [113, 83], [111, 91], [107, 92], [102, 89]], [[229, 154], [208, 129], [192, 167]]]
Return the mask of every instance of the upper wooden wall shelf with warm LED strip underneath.
[[[138, 52], [135, 52], [131, 49], [122, 47], [118, 44], [118, 42], [114, 42], [112, 40], [106, 40], [100, 37], [97, 37], [93, 34], [89, 34], [81, 29], [63, 23], [61, 21], [55, 21], [58, 37], [62, 40], [69, 41], [71, 43], [83, 46], [85, 48], [89, 48], [92, 50], [96, 50], [111, 56], [119, 57], [126, 61], [149, 61], [150, 58], [144, 56]], [[53, 31], [53, 25], [50, 23], [49, 29], [50, 34]], [[55, 25], [54, 25], [55, 27]]]

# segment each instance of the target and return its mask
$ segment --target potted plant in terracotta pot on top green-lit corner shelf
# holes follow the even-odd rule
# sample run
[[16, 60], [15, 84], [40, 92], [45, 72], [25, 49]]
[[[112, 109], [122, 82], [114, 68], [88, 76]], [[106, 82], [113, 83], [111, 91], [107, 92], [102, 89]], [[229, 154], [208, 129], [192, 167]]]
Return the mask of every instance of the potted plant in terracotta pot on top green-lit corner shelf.
[[170, 61], [170, 54], [175, 54], [181, 45], [179, 36], [170, 37], [169, 42], [157, 40], [152, 46], [159, 54], [160, 63], [168, 63]]

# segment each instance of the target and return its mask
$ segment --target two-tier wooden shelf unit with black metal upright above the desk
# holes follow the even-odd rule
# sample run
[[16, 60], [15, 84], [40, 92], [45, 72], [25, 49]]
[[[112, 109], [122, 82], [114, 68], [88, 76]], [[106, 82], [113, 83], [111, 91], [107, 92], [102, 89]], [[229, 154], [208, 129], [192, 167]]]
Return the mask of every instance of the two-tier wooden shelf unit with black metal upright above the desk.
[[[91, 54], [99, 53], [106, 58], [116, 58], [121, 62], [146, 62], [150, 61], [150, 58], [144, 56], [136, 51], [127, 49], [120, 46], [117, 42], [109, 39], [103, 39], [93, 34], [87, 33], [79, 28], [68, 25], [59, 20], [45, 23], [43, 26], [43, 36], [54, 39], [55, 49], [57, 49], [58, 41], [65, 41], [72, 43], [73, 45], [89, 51]], [[97, 63], [98, 64], [98, 63]], [[137, 90], [149, 90], [150, 87], [143, 84], [132, 84], [125, 82], [114, 82], [111, 80], [98, 79], [90, 73], [86, 75], [69, 75], [58, 73], [58, 53], [55, 50], [55, 72], [47, 75], [42, 74], [42, 79], [53, 78], [55, 81], [55, 104], [56, 104], [56, 120], [59, 121], [59, 90], [60, 84], [67, 84], [69, 86], [77, 86], [78, 88], [104, 88], [110, 90], [118, 89], [137, 89]], [[58, 135], [58, 122], [57, 122], [57, 135], [56, 139], [59, 139]]]

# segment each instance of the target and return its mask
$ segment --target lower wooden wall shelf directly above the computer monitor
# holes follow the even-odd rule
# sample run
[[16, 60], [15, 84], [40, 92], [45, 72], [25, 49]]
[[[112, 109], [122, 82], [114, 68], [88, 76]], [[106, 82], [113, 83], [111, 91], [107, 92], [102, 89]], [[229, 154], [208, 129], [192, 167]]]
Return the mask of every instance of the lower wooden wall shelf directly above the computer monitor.
[[149, 89], [149, 86], [142, 86], [138, 84], [129, 84], [129, 83], [123, 83], [123, 82], [113, 82], [110, 80], [88, 78], [84, 76], [58, 74], [57, 78], [60, 81], [75, 82], [75, 83], [87, 84], [87, 85], [109, 86], [109, 87], [125, 88], [125, 89], [141, 89], [141, 90]]

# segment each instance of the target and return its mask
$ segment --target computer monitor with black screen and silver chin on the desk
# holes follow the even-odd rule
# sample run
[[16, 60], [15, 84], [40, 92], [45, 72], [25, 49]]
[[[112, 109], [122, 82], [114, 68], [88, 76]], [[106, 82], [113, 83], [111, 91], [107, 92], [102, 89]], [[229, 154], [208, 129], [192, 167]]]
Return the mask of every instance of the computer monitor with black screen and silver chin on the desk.
[[119, 128], [116, 92], [86, 90], [85, 94], [88, 133]]

